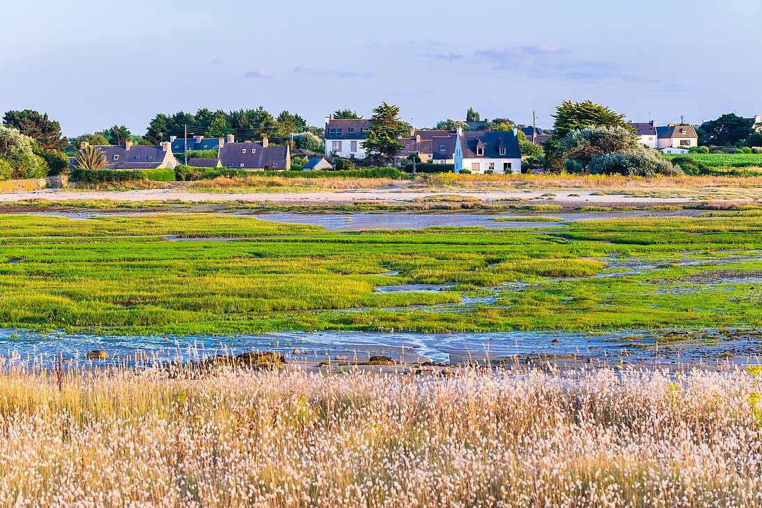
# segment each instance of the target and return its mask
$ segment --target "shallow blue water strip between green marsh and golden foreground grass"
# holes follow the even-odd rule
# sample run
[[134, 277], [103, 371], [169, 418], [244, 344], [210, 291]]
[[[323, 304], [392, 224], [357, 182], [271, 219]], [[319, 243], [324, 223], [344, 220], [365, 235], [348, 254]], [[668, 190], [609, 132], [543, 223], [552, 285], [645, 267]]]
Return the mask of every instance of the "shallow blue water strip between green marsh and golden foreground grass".
[[[662, 343], [658, 343], [660, 339]], [[293, 355], [298, 348], [300, 353]], [[60, 355], [64, 362], [88, 365], [85, 355], [103, 349], [107, 362], [96, 365], [152, 365], [189, 362], [210, 355], [245, 351], [283, 352], [308, 365], [346, 355], [366, 360], [370, 355], [390, 355], [408, 362], [462, 363], [565, 362], [599, 365], [635, 365], [676, 368], [700, 365], [760, 365], [762, 333], [706, 331], [700, 333], [525, 332], [502, 333], [373, 333], [284, 332], [233, 337], [116, 336], [91, 334], [24, 333], [0, 330], [0, 355], [6, 365], [34, 364], [52, 368]]]

